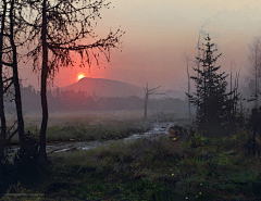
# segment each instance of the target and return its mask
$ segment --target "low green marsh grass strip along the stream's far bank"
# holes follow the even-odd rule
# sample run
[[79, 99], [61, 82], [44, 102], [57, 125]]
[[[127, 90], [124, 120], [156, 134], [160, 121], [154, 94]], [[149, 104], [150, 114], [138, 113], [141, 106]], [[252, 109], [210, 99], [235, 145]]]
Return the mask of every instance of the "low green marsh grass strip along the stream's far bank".
[[[48, 126], [47, 142], [51, 141], [84, 141], [84, 140], [109, 140], [128, 137], [134, 133], [142, 133], [150, 128], [151, 124], [144, 124], [140, 120], [116, 121], [108, 120], [104, 123], [71, 124], [64, 126]], [[39, 134], [37, 125], [30, 125], [25, 128], [33, 134]], [[35, 135], [36, 138], [37, 135]], [[18, 143], [17, 134], [12, 138], [11, 143]]]

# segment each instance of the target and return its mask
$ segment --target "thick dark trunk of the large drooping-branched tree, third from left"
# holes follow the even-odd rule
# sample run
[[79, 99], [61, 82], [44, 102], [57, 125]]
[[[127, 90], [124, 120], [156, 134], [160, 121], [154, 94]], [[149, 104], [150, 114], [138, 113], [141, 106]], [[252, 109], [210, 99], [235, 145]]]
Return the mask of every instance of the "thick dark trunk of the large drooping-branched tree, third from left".
[[48, 49], [47, 49], [47, 16], [46, 16], [46, 2], [42, 1], [42, 29], [41, 29], [41, 40], [42, 40], [42, 66], [41, 66], [41, 109], [42, 109], [42, 121], [40, 128], [40, 148], [39, 148], [39, 160], [42, 161], [47, 159], [46, 155], [46, 130], [48, 123], [48, 105], [47, 105], [47, 77], [48, 77]]

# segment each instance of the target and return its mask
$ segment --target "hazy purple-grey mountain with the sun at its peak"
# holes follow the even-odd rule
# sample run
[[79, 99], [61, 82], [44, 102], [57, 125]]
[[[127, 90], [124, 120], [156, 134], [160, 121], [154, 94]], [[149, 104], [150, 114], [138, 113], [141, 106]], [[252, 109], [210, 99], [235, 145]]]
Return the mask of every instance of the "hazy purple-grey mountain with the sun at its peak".
[[[74, 90], [74, 91], [86, 91], [89, 96], [98, 97], [129, 97], [137, 96], [140, 98], [145, 97], [145, 91], [142, 87], [130, 85], [127, 83], [103, 79], [103, 78], [91, 78], [84, 77], [77, 83], [72, 85], [61, 87], [61, 91]], [[55, 93], [55, 89], [52, 90]], [[158, 92], [164, 92], [164, 90], [158, 90]], [[176, 90], [171, 90], [167, 93], [172, 98], [182, 98], [184, 99], [185, 93]], [[151, 96], [151, 98], [160, 98], [163, 96]]]

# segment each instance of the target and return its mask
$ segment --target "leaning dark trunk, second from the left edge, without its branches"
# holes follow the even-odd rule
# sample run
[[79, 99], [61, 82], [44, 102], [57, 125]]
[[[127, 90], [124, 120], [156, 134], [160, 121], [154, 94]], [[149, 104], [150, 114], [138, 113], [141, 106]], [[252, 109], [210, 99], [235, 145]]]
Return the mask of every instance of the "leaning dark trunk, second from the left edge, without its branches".
[[10, 9], [10, 42], [12, 46], [13, 51], [13, 83], [15, 89], [15, 106], [16, 106], [16, 114], [18, 121], [18, 137], [20, 137], [20, 145], [21, 149], [24, 150], [26, 148], [25, 138], [24, 138], [24, 118], [22, 113], [22, 101], [21, 101], [21, 90], [20, 90], [20, 81], [18, 81], [18, 68], [17, 68], [17, 54], [16, 54], [16, 46], [14, 43], [14, 33], [13, 33], [13, 8], [14, 8], [14, 0], [11, 2]]

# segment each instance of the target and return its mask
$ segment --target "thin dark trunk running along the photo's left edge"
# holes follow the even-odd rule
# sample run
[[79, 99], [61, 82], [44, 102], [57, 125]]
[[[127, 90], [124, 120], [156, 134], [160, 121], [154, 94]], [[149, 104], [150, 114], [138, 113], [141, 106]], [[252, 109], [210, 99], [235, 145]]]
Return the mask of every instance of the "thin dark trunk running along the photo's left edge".
[[7, 1], [3, 0], [3, 13], [1, 18], [1, 35], [0, 35], [0, 117], [1, 117], [1, 134], [0, 134], [0, 160], [4, 156], [7, 122], [3, 105], [3, 77], [2, 77], [2, 48], [3, 48], [3, 30], [7, 15]]

